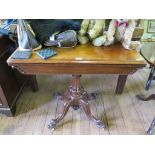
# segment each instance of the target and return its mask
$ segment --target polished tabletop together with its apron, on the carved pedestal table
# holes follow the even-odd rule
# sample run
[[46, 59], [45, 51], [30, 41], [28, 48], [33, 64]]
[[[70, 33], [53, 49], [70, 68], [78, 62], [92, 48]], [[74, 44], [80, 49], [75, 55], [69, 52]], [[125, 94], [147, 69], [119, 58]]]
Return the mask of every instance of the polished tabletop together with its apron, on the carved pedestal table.
[[[75, 48], [53, 49], [58, 54], [48, 60], [41, 59], [33, 52], [30, 59], [18, 60], [10, 57], [7, 62], [23, 74], [128, 75], [145, 66], [145, 62], [138, 52], [125, 50], [120, 44], [110, 47], [94, 47], [88, 44]], [[123, 86], [120, 87], [120, 84], [117, 87], [123, 90]], [[119, 91], [122, 92], [122, 90]]]

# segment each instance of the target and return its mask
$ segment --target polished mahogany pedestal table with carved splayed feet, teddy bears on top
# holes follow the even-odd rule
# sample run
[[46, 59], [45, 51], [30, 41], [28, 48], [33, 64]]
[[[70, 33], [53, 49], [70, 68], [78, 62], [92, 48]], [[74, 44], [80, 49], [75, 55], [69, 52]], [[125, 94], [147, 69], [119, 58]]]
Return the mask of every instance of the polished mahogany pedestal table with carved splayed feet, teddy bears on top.
[[[82, 74], [118, 74], [116, 94], [121, 94], [129, 74], [146, 65], [142, 56], [135, 50], [126, 50], [120, 44], [109, 47], [95, 47], [90, 44], [78, 45], [74, 48], [52, 48], [57, 55], [47, 60], [41, 59], [35, 52], [32, 52], [30, 59], [12, 59], [7, 63], [18, 69], [23, 74], [71, 74], [72, 82], [68, 90], [59, 96], [63, 102], [63, 111], [48, 125], [54, 129], [68, 112], [70, 107], [82, 108], [88, 118], [99, 128], [105, 128], [101, 122], [92, 115], [89, 100], [93, 94], [80, 85]], [[94, 96], [94, 95], [93, 95]]]

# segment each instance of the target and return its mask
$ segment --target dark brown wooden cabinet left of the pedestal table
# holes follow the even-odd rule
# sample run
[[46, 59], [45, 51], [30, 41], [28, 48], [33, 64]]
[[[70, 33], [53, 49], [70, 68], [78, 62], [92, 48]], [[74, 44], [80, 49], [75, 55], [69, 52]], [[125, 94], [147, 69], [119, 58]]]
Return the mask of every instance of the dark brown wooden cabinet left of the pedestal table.
[[[15, 50], [15, 46], [15, 43], [8, 37], [0, 36], [0, 99], [3, 103], [3, 107], [0, 106], [0, 113], [5, 113], [9, 116], [12, 116], [15, 112], [15, 101], [26, 81], [26, 76], [20, 74], [17, 70], [13, 70], [6, 63], [8, 57]], [[34, 85], [34, 81], [35, 79], [33, 78], [31, 86]], [[34, 88], [37, 88], [36, 82], [34, 86]]]

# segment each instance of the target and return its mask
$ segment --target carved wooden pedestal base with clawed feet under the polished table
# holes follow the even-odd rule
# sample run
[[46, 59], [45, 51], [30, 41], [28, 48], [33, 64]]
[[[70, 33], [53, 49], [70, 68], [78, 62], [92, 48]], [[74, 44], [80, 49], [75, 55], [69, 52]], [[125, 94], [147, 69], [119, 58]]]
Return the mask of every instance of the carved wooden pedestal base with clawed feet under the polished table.
[[80, 85], [80, 77], [81, 75], [72, 75], [73, 79], [71, 82], [71, 86], [69, 87], [69, 90], [64, 93], [63, 96], [61, 96], [59, 93], [56, 94], [57, 97], [59, 97], [60, 100], [64, 103], [64, 109], [60, 116], [58, 116], [56, 119], [52, 119], [48, 125], [49, 129], [54, 129], [56, 127], [56, 124], [59, 123], [67, 114], [68, 109], [70, 107], [73, 107], [73, 109], [77, 110], [78, 108], [82, 108], [88, 118], [93, 121], [97, 127], [99, 128], [105, 128], [105, 125], [97, 118], [95, 118], [90, 111], [89, 99], [94, 99], [92, 95], [89, 95], [83, 87]]

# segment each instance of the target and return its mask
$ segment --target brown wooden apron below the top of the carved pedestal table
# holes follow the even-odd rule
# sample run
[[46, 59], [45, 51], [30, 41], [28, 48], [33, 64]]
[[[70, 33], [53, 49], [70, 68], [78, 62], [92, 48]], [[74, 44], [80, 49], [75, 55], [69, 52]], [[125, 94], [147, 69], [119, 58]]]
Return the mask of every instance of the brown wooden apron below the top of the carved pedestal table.
[[145, 65], [115, 64], [9, 64], [23, 74], [133, 74]]

